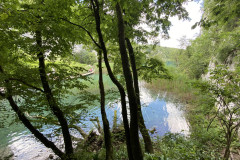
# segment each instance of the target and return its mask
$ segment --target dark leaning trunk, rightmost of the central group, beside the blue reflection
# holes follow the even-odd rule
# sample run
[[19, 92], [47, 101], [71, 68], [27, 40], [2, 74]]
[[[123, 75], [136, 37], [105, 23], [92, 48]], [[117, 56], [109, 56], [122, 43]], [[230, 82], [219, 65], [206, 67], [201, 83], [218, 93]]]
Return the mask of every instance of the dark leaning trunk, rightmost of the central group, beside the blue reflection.
[[128, 38], [126, 38], [126, 42], [127, 42], [127, 48], [128, 48], [128, 53], [130, 57], [132, 72], [133, 72], [134, 89], [135, 89], [137, 105], [138, 105], [139, 129], [143, 136], [145, 151], [147, 153], [153, 153], [154, 151], [153, 151], [151, 137], [148, 133], [147, 127], [145, 126], [142, 110], [141, 110], [140, 91], [139, 91], [139, 85], [138, 85], [138, 74], [136, 69], [135, 55], [133, 52], [133, 47], [131, 45], [131, 42]]

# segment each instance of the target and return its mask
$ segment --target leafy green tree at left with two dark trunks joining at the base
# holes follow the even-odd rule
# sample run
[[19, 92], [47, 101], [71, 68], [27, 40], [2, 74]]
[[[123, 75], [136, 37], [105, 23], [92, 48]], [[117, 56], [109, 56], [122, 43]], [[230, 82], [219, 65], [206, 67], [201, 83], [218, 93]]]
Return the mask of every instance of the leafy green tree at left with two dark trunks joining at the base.
[[[1, 25], [1, 29], [3, 29], [1, 32], [18, 33], [17, 36], [12, 37], [12, 41], [14, 41], [14, 45], [11, 46], [12, 48], [1, 52], [1, 57], [5, 57], [4, 59], [6, 60], [2, 61], [1, 59], [0, 65], [1, 87], [4, 88], [3, 92], [1, 92], [1, 96], [9, 101], [23, 124], [46, 147], [51, 148], [54, 153], [62, 159], [72, 159], [73, 146], [68, 122], [59, 103], [60, 97], [56, 98], [56, 95], [54, 95], [58, 90], [54, 87], [50, 87], [49, 84], [52, 77], [55, 81], [62, 77], [60, 78], [59, 75], [56, 74], [47, 74], [50, 67], [45, 63], [46, 57], [48, 60], [53, 60], [57, 54], [65, 52], [66, 55], [66, 53], [69, 53], [71, 49], [71, 44], [69, 43], [70, 39], [67, 39], [67, 37], [64, 36], [64, 32], [68, 30], [68, 27], [64, 24], [62, 24], [62, 27], [57, 26], [55, 20], [57, 17], [52, 16], [52, 12], [59, 13], [60, 10], [56, 10], [57, 8], [54, 6], [53, 1], [8, 1], [5, 3], [3, 2], [1, 7], [1, 11], [3, 12], [1, 15], [8, 15], [7, 17], [4, 17], [7, 26]], [[69, 6], [66, 7], [63, 5], [61, 7], [61, 11], [66, 11]], [[70, 30], [67, 32], [72, 33]], [[30, 36], [24, 37], [24, 34]], [[49, 52], [48, 56], [46, 54], [47, 52]], [[9, 56], [9, 58], [6, 55]], [[62, 54], [62, 56], [64, 56], [64, 54]], [[16, 57], [19, 59], [14, 59]], [[35, 63], [37, 59], [38, 65]], [[11, 60], [16, 63], [10, 65], [9, 63]], [[28, 67], [28, 62], [34, 62], [34, 65], [38, 66], [38, 68]], [[23, 70], [26, 68], [27, 70], [25, 70], [25, 74]], [[64, 72], [62, 73], [62, 76], [63, 74]], [[57, 84], [55, 83], [55, 86], [56, 85]], [[34, 91], [32, 91], [32, 89], [34, 89]], [[36, 92], [36, 90], [38, 92]], [[41, 100], [40, 102], [38, 101], [38, 98], [35, 97], [36, 93], [34, 92], [37, 94], [40, 93], [40, 95], [38, 95]], [[19, 106], [19, 104], [13, 100], [13, 96], [18, 96], [23, 102], [25, 101], [25, 103], [23, 103], [25, 106]], [[50, 108], [50, 111], [56, 116], [57, 122], [61, 126], [65, 144], [65, 153], [59, 150], [54, 143], [49, 141], [31, 124], [27, 116], [24, 114], [24, 111], [32, 111], [30, 108], [27, 109], [27, 106], [30, 106], [30, 108], [36, 107], [39, 110], [46, 106]]]

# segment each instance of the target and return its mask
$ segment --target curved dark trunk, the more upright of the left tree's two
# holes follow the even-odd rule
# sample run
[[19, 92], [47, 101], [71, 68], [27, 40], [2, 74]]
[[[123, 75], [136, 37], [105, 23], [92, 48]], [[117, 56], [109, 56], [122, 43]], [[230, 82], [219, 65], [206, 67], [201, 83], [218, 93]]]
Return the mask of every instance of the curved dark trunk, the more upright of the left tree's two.
[[36, 31], [36, 43], [37, 43], [37, 49], [38, 49], [37, 57], [39, 61], [39, 74], [40, 74], [42, 86], [44, 89], [44, 93], [46, 95], [48, 104], [53, 114], [57, 117], [60, 123], [60, 126], [62, 128], [62, 133], [63, 133], [64, 144], [65, 144], [65, 152], [66, 152], [66, 155], [69, 157], [69, 159], [71, 159], [70, 157], [73, 155], [72, 139], [69, 133], [67, 120], [65, 119], [62, 110], [57, 105], [53, 97], [52, 90], [50, 89], [47, 81], [47, 75], [45, 71], [45, 62], [44, 62], [45, 60], [44, 60], [44, 54], [42, 51], [42, 35], [40, 30]]

